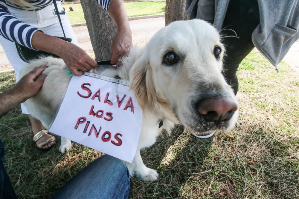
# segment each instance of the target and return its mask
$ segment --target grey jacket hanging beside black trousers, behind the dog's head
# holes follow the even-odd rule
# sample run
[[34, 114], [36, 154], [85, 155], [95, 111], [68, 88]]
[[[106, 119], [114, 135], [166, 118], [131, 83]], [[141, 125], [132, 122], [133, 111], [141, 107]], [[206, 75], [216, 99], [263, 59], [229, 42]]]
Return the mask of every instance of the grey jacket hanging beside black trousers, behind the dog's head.
[[[271, 64], [277, 67], [299, 38], [299, 1], [257, 1], [260, 24], [252, 33], [252, 42]], [[228, 3], [229, 0], [187, 0], [186, 14], [189, 19], [214, 20], [214, 27], [221, 30]]]

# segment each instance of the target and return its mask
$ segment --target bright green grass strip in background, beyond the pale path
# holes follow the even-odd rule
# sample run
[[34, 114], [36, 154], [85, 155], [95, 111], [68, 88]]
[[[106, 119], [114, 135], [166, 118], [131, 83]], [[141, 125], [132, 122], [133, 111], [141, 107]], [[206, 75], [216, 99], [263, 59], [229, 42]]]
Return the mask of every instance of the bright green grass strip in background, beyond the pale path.
[[[128, 17], [165, 14], [165, 2], [149, 1], [124, 4]], [[71, 24], [85, 23], [81, 4], [64, 4], [62, 6], [65, 8]], [[74, 7], [72, 12], [69, 11], [71, 6]]]

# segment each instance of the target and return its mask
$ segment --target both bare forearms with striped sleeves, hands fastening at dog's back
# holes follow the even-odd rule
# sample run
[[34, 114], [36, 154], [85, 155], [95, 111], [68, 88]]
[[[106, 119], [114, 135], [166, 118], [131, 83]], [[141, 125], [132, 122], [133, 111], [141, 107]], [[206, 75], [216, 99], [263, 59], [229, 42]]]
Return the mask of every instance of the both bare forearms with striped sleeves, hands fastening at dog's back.
[[[109, 4], [108, 13], [118, 28], [111, 44], [111, 64], [119, 65], [119, 59], [129, 53], [132, 48], [132, 33], [123, 1], [112, 0]], [[31, 43], [36, 50], [43, 50], [61, 57], [76, 76], [81, 76], [84, 68], [91, 70], [98, 67], [97, 62], [80, 47], [41, 31], [36, 31], [33, 34]]]

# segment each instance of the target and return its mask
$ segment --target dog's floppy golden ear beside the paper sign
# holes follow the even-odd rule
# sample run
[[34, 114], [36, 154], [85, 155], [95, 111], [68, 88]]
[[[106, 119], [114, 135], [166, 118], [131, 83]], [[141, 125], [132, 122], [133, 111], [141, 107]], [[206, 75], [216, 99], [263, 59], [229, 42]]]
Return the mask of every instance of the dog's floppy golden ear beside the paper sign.
[[149, 63], [145, 60], [144, 56], [141, 56], [130, 70], [130, 89], [135, 93], [141, 108], [144, 108], [148, 102], [146, 74]]

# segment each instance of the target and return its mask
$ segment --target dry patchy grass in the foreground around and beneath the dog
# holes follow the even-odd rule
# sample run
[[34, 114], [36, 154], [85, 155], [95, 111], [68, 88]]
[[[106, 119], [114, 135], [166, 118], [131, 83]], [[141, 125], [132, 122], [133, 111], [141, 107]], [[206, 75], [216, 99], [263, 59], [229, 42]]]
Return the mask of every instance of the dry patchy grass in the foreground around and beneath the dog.
[[[281, 63], [274, 68], [256, 51], [238, 71], [239, 121], [228, 133], [197, 139], [177, 126], [170, 137], [142, 152], [158, 182], [132, 178], [129, 198], [299, 198], [299, 81]], [[0, 92], [15, 74], [0, 73]], [[72, 176], [102, 155], [74, 144], [69, 152], [38, 150], [30, 123], [17, 106], [0, 118], [5, 168], [19, 198], [50, 198]]]

